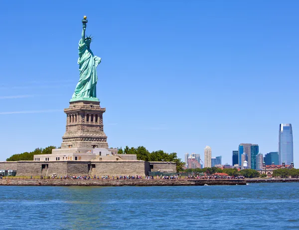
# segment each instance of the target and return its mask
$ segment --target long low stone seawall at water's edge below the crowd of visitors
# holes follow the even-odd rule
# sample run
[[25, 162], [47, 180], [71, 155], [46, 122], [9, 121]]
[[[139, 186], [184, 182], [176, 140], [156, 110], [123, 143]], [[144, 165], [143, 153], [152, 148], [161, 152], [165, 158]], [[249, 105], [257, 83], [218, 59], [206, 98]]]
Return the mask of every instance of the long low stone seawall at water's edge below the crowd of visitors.
[[191, 186], [191, 185], [246, 185], [246, 180], [61, 180], [61, 179], [0, 179], [0, 185], [20, 186]]

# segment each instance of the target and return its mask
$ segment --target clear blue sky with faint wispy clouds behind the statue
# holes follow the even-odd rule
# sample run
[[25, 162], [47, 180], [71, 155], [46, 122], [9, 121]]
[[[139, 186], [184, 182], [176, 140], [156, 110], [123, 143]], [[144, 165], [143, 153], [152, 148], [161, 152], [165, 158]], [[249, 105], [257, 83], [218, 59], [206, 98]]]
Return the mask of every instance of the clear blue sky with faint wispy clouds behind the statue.
[[79, 79], [83, 15], [110, 147], [200, 153], [231, 164], [240, 143], [298, 156], [299, 1], [3, 1], [0, 160], [60, 146]]

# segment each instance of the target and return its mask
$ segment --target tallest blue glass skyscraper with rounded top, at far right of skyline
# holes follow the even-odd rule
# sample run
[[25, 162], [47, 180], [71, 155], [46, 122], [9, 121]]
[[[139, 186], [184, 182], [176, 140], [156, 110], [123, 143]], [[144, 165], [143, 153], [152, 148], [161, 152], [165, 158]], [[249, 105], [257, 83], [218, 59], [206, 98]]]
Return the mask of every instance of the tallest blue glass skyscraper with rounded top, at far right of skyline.
[[291, 162], [294, 160], [292, 124], [279, 125], [278, 145], [280, 164], [282, 164], [283, 161], [285, 161], [286, 164], [291, 164]]

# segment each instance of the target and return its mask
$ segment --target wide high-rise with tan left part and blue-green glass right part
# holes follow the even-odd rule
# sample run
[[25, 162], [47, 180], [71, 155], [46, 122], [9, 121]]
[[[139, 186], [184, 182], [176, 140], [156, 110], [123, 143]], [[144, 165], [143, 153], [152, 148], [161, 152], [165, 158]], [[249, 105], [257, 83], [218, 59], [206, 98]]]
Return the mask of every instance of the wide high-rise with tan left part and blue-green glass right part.
[[246, 153], [248, 156], [248, 168], [256, 169], [257, 154], [259, 153], [259, 145], [256, 144], [240, 144], [239, 145], [239, 165], [243, 165], [241, 162], [241, 156]]

